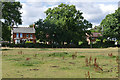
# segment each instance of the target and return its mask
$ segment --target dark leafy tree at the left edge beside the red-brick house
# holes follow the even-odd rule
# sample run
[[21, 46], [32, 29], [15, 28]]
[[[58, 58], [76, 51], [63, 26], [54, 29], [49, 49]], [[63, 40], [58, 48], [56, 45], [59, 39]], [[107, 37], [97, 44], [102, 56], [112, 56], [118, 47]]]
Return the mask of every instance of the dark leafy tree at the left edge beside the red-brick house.
[[11, 28], [14, 25], [22, 24], [20, 9], [22, 5], [20, 2], [2, 2], [2, 38], [10, 41]]

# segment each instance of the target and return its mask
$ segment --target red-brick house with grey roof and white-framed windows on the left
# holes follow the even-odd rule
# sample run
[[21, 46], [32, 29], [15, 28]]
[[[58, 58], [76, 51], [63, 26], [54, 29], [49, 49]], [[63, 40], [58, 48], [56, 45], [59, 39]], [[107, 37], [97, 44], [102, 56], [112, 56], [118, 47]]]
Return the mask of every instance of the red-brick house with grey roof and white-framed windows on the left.
[[30, 41], [36, 43], [35, 37], [35, 28], [30, 27], [14, 27], [11, 31], [11, 39], [15, 44], [25, 43], [26, 41]]

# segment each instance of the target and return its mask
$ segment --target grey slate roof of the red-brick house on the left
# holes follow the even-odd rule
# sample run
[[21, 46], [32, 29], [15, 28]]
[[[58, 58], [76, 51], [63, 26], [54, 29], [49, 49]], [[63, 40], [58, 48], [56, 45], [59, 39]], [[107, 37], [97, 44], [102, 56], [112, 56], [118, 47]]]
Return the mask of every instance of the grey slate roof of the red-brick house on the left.
[[35, 29], [30, 27], [14, 27], [13, 33], [35, 33]]

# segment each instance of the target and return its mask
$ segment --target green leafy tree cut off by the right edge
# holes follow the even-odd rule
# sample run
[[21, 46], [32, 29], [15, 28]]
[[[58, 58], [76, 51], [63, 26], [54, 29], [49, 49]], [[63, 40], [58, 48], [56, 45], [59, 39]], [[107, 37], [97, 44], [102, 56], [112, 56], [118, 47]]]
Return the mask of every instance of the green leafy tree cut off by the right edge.
[[116, 38], [120, 40], [120, 8], [115, 13], [108, 14], [101, 22], [101, 29], [103, 27], [104, 38]]

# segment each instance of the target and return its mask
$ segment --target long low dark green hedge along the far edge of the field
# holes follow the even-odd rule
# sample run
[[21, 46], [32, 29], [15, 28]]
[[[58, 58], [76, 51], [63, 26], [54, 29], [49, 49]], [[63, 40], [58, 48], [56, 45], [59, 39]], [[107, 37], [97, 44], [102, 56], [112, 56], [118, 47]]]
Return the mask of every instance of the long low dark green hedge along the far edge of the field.
[[[106, 41], [104, 43], [97, 42], [92, 44], [92, 48], [107, 48], [107, 47], [115, 47], [114, 41]], [[24, 48], [90, 48], [91, 46], [87, 43], [82, 43], [81, 45], [47, 45], [40, 43], [25, 43], [25, 44], [13, 44], [13, 43], [2, 43], [2, 47], [24, 47]]]

